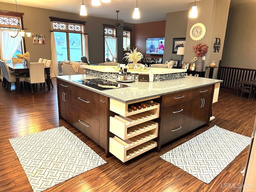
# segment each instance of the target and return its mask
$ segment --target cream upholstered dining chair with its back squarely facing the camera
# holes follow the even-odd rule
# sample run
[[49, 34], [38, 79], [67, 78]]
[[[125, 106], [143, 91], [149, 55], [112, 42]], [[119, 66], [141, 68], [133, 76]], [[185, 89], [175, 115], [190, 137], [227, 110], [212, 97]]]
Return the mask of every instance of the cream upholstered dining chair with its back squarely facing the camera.
[[29, 77], [25, 77], [25, 82], [30, 83], [32, 94], [33, 84], [43, 83], [45, 92], [44, 63], [31, 62], [29, 67]]

